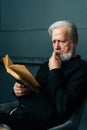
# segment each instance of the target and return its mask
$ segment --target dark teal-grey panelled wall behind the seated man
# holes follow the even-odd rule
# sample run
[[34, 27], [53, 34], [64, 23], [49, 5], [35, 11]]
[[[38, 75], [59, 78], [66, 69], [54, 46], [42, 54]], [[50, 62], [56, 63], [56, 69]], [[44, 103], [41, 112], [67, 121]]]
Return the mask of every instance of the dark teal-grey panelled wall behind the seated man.
[[[57, 20], [76, 23], [79, 33], [77, 52], [87, 60], [87, 0], [0, 0], [0, 103], [16, 100], [15, 80], [6, 73], [2, 57], [25, 64], [33, 75], [52, 52], [47, 29]], [[80, 130], [86, 130], [84, 112]]]

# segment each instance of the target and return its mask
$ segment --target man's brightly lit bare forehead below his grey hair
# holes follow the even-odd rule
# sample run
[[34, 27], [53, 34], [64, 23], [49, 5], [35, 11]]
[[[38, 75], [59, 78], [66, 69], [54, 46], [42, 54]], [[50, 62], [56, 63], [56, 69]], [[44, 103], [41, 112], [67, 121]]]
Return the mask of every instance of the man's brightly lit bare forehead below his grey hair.
[[66, 37], [68, 35], [68, 28], [66, 26], [55, 28], [52, 32], [52, 38], [57, 36]]

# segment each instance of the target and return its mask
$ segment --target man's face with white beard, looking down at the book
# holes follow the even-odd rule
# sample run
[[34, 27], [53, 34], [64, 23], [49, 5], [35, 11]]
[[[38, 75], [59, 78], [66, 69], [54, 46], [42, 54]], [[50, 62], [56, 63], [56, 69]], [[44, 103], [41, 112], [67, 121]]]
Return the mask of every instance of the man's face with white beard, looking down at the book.
[[74, 55], [75, 43], [71, 41], [67, 27], [54, 29], [52, 33], [53, 49], [61, 60], [69, 60]]

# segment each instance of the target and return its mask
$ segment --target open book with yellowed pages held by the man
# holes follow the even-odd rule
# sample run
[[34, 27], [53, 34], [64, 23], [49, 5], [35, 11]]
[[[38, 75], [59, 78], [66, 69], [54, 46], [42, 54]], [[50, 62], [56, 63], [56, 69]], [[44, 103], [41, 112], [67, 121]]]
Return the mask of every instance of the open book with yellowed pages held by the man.
[[3, 62], [6, 71], [16, 78], [17, 81], [22, 83], [25, 87], [29, 87], [34, 92], [39, 92], [39, 83], [25, 65], [14, 64], [8, 55], [3, 57]]

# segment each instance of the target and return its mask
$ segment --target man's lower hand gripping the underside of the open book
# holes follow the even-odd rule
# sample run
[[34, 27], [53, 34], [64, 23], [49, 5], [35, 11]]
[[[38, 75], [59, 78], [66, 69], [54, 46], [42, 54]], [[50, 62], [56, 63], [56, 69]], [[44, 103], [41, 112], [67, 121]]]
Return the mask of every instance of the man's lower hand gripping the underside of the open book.
[[16, 82], [13, 87], [14, 93], [16, 96], [20, 97], [26, 95], [29, 92], [27, 87], [24, 87], [22, 84]]

